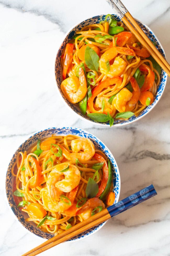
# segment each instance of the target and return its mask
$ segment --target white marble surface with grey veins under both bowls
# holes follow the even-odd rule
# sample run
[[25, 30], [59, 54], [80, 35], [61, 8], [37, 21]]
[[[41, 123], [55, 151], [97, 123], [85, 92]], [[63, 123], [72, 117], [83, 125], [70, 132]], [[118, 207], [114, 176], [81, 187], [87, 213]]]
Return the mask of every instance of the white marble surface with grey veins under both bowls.
[[[169, 0], [122, 2], [154, 31], [170, 62]], [[112, 13], [102, 0], [0, 1], [0, 255], [18, 256], [44, 241], [27, 233], [9, 209], [5, 174], [14, 151], [30, 134], [57, 126], [86, 129], [107, 145], [120, 170], [120, 200], [150, 184], [158, 195], [109, 220], [93, 236], [41, 255], [170, 255], [170, 79], [156, 107], [122, 128], [78, 119], [55, 88], [55, 55], [65, 32], [102, 13]]]

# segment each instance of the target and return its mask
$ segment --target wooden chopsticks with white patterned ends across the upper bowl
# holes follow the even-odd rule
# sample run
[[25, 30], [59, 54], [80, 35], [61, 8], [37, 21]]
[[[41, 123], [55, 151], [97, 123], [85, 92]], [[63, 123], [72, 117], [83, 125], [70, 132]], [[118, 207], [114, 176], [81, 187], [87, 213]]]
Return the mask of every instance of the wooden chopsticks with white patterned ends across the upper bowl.
[[136, 20], [132, 17], [126, 7], [122, 4], [120, 0], [106, 0], [109, 5], [117, 12], [119, 17], [122, 19], [124, 24], [129, 28], [129, 30], [136, 36], [139, 42], [149, 51], [152, 57], [157, 61], [157, 63], [162, 67], [163, 70], [170, 76], [170, 65], [166, 59], [157, 50], [151, 40], [140, 28]]

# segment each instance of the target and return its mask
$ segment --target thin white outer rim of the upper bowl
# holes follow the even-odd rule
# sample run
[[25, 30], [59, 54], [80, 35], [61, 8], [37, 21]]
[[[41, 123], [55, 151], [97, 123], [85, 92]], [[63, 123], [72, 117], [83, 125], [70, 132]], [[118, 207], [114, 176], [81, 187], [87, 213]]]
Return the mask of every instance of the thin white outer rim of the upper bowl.
[[[107, 14], [108, 14], [108, 13], [107, 13]], [[57, 49], [57, 53], [56, 53], [56, 57], [55, 57], [55, 63], [54, 63], [54, 71], [55, 71], [56, 58], [57, 58], [59, 49], [60, 49], [60, 47], [63, 45], [63, 41], [65, 40], [66, 36], [67, 36], [75, 27], [77, 27], [78, 25], [80, 25], [82, 22], [85, 22], [85, 21], [88, 20], [88, 19], [93, 19], [93, 18], [95, 18], [95, 17], [100, 17], [100, 16], [102, 16], [102, 15], [107, 15], [107, 14], [104, 13], [104, 14], [99, 14], [99, 15], [95, 15], [95, 16], [93, 16], [93, 17], [86, 18], [85, 20], [82, 20], [81, 22], [78, 22], [78, 23], [76, 23], [75, 25], [73, 25], [73, 26], [65, 33], [65, 35], [63, 36], [63, 39], [62, 39], [62, 43], [60, 44], [60, 46], [59, 46], [58, 49]], [[117, 17], [119, 17], [119, 15], [118, 15], [117, 13], [114, 13], [114, 12], [112, 12], [111, 15], [116, 15]], [[119, 18], [120, 18], [120, 17], [119, 17]], [[160, 47], [161, 47], [161, 49], [162, 49], [162, 51], [163, 51], [163, 54], [165, 55], [165, 50], [163, 49], [163, 46], [162, 46], [162, 44], [160, 43], [160, 41], [158, 40], [158, 38], [157, 38], [157, 36], [155, 35], [155, 33], [154, 33], [145, 23], [141, 22], [140, 20], [138, 20], [138, 19], [136, 19], [136, 18], [135, 18], [135, 20], [138, 21], [139, 23], [143, 24], [143, 25], [147, 28], [147, 30], [148, 30], [149, 32], [151, 32], [151, 33], [154, 35], [156, 41], [158, 42], [158, 44], [160, 45]], [[165, 55], [165, 59], [166, 59], [166, 55]], [[162, 68], [161, 68], [161, 69], [162, 69]], [[55, 75], [55, 72], [54, 72], [54, 75]], [[168, 75], [167, 75], [167, 73], [165, 72], [165, 85], [164, 85], [164, 87], [163, 87], [163, 90], [162, 90], [162, 92], [161, 92], [161, 95], [160, 95], [160, 97], [158, 98], [158, 100], [157, 100], [156, 102], [154, 101], [155, 103], [153, 102], [154, 105], [153, 105], [150, 109], [148, 109], [148, 111], [147, 111], [146, 113], [144, 113], [142, 116], [137, 116], [134, 120], [129, 121], [128, 123], [118, 123], [118, 124], [114, 124], [114, 125], [112, 125], [111, 128], [114, 128], [114, 127], [121, 127], [121, 126], [125, 126], [125, 125], [128, 125], [128, 124], [134, 123], [134, 122], [140, 120], [141, 118], [143, 118], [144, 116], [146, 116], [146, 115], [157, 105], [157, 103], [160, 101], [160, 99], [161, 99], [161, 97], [162, 97], [162, 95], [163, 95], [163, 92], [164, 92], [164, 90], [165, 90], [165, 87], [166, 87], [167, 77], [168, 77]], [[55, 76], [55, 81], [56, 81], [56, 76]], [[56, 86], [56, 85], [57, 85], [57, 86]], [[83, 121], [85, 121], [85, 122], [88, 122], [88, 123], [91, 123], [91, 124], [93, 123], [93, 124], [95, 124], [96, 126], [103, 126], [103, 127], [105, 127], [105, 128], [109, 128], [109, 127], [110, 127], [110, 126], [109, 126], [109, 123], [93, 122], [92, 120], [86, 119], [85, 117], [83, 117], [83, 116], [81, 116], [80, 114], [76, 113], [76, 112], [67, 104], [67, 102], [65, 101], [65, 99], [64, 99], [63, 96], [61, 95], [61, 93], [60, 93], [60, 91], [59, 91], [59, 88], [58, 88], [58, 83], [57, 83], [57, 81], [56, 81], [56, 85], [55, 85], [56, 90], [58, 91], [58, 94], [59, 94], [60, 97], [62, 98], [62, 100], [63, 100], [65, 106], [67, 106], [68, 109], [71, 109], [71, 111], [72, 111], [74, 114], [76, 114], [81, 120], [83, 120]], [[59, 86], [60, 86], [60, 85], [59, 85]]]

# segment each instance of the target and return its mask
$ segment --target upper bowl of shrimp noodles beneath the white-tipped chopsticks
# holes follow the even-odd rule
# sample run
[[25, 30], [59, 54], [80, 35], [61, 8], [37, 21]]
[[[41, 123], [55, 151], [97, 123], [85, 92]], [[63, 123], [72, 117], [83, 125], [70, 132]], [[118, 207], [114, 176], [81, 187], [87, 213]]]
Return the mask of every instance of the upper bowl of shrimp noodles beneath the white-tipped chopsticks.
[[[152, 30], [137, 22], [165, 57]], [[145, 116], [167, 81], [165, 71], [116, 14], [89, 18], [66, 34], [56, 55], [55, 77], [66, 106], [105, 127]]]

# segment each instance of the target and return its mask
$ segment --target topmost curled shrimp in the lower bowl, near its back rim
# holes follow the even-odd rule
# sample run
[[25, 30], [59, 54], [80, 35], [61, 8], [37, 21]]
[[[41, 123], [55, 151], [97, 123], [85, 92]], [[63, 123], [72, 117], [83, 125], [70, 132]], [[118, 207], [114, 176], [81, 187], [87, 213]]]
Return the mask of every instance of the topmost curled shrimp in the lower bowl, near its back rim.
[[94, 145], [88, 138], [78, 138], [72, 140], [72, 153], [67, 151], [61, 145], [59, 145], [59, 147], [62, 149], [64, 157], [70, 161], [76, 161], [76, 158], [78, 158], [78, 160], [83, 163], [88, 160], [91, 160], [95, 153]]

